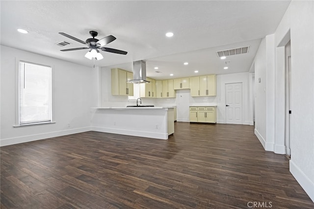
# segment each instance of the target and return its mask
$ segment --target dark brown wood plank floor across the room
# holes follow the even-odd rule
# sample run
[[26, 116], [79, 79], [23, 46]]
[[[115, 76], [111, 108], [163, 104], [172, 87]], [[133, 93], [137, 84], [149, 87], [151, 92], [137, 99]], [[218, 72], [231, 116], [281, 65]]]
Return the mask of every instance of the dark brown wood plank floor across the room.
[[252, 126], [177, 122], [169, 140], [90, 131], [0, 157], [1, 209], [314, 208]]

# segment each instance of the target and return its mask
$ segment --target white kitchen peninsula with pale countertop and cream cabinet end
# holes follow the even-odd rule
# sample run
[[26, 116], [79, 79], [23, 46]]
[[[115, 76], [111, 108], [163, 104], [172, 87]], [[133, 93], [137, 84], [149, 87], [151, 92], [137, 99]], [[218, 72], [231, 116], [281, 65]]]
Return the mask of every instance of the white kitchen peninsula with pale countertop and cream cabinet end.
[[174, 133], [174, 107], [92, 107], [92, 130], [168, 139]]

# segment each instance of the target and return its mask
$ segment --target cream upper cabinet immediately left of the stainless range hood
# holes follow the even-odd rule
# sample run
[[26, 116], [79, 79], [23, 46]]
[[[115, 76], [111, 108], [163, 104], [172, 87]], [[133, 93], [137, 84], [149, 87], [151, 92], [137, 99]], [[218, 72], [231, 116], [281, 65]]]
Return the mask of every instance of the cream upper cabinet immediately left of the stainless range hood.
[[111, 94], [133, 96], [133, 83], [128, 80], [133, 79], [133, 74], [119, 69], [111, 69]]

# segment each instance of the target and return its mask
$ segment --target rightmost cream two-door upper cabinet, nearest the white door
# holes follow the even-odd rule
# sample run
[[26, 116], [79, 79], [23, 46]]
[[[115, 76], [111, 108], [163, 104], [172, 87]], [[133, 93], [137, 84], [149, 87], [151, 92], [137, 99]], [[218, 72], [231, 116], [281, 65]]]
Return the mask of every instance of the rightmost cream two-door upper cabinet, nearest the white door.
[[200, 76], [200, 96], [216, 96], [216, 75]]

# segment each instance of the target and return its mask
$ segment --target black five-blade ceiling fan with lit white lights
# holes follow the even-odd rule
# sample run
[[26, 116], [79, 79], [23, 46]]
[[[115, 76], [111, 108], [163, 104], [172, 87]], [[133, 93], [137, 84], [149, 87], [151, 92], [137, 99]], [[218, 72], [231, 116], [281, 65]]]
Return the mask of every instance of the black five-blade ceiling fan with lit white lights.
[[100, 40], [96, 39], [95, 37], [98, 35], [98, 32], [96, 31], [89, 31], [89, 34], [93, 37], [93, 38], [88, 38], [86, 39], [86, 41], [82, 41], [79, 40], [78, 38], [75, 38], [73, 36], [70, 36], [66, 33], [63, 32], [59, 32], [59, 34], [64, 35], [65, 37], [68, 37], [72, 40], [75, 40], [81, 44], [85, 44], [87, 45], [87, 47], [81, 47], [81, 48], [73, 48], [73, 49], [66, 49], [66, 50], [60, 50], [62, 52], [67, 52], [67, 51], [75, 51], [75, 50], [87, 50], [90, 49], [90, 51], [88, 51], [85, 54], [85, 57], [87, 57], [88, 59], [92, 59], [93, 57], [96, 58], [97, 60], [103, 59], [103, 55], [99, 52], [99, 49], [105, 52], [111, 52], [111, 53], [118, 53], [118, 54], [127, 54], [128, 52], [122, 51], [122, 50], [117, 50], [117, 49], [111, 49], [111, 48], [107, 48], [104, 47], [106, 44], [109, 44], [110, 42], [116, 40], [116, 37], [112, 36], [112, 35], [108, 35]]

